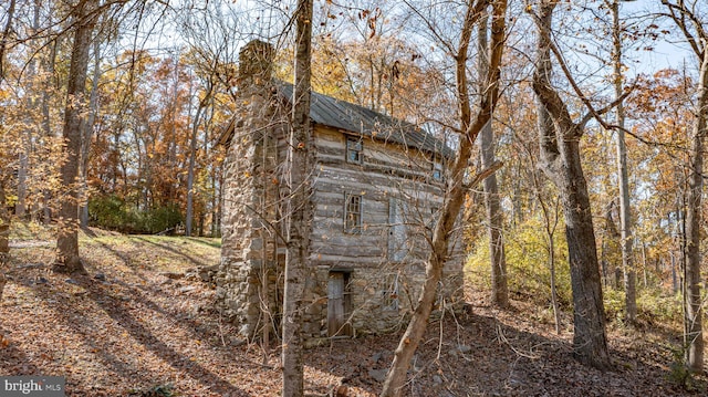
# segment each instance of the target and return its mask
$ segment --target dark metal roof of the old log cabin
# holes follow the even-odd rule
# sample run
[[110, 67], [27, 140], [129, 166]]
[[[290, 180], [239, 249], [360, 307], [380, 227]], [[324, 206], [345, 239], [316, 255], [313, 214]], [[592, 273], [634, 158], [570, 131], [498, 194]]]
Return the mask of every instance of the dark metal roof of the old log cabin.
[[[293, 85], [284, 82], [275, 82], [275, 84], [283, 98], [290, 102]], [[316, 124], [385, 143], [391, 142], [433, 154], [442, 154], [445, 157], [452, 155], [452, 150], [442, 140], [415, 124], [314, 91], [310, 103], [310, 118]]]

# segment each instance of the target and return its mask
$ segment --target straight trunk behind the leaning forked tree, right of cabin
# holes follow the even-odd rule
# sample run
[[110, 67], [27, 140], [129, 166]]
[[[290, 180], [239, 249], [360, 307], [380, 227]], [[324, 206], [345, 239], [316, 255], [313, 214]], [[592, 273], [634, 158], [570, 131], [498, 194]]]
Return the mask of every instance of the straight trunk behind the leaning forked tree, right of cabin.
[[[479, 75], [487, 74], [489, 60], [487, 51], [487, 18], [482, 18], [478, 25]], [[480, 92], [486, 87], [480, 86]], [[481, 153], [482, 169], [491, 167], [494, 159], [494, 138], [491, 121], [485, 125], [479, 136], [479, 152]], [[507, 284], [507, 259], [503, 243], [503, 215], [499, 206], [499, 188], [497, 175], [492, 174], [483, 181], [485, 208], [487, 209], [487, 230], [489, 234], [489, 258], [491, 261], [491, 303], [498, 307], [509, 306], [509, 286]]]

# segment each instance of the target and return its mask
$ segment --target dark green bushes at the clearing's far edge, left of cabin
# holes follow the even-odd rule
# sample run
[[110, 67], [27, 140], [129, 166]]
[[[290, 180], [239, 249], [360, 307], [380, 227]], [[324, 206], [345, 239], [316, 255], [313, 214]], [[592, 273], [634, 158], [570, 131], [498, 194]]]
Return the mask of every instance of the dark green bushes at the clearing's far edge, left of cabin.
[[154, 234], [174, 230], [183, 222], [183, 215], [175, 203], [139, 211], [115, 195], [92, 198], [88, 213], [92, 226], [123, 233]]

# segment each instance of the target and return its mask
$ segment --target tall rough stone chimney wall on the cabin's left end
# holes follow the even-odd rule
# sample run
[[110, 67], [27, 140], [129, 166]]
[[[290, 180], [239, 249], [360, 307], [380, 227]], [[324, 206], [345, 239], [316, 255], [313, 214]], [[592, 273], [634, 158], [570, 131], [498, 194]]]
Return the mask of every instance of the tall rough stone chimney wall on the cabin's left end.
[[262, 324], [261, 279], [277, 262], [273, 231], [278, 185], [278, 125], [271, 93], [273, 51], [251, 42], [241, 50], [239, 109], [223, 170], [221, 262], [215, 279], [217, 305], [239, 333], [252, 336]]

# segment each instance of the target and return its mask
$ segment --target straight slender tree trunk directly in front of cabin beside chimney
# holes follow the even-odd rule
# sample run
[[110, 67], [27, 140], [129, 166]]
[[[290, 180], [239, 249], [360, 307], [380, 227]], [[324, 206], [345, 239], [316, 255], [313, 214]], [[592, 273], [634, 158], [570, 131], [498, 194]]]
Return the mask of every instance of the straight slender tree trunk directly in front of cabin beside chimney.
[[308, 257], [312, 231], [310, 124], [311, 61], [312, 61], [312, 1], [298, 0], [295, 9], [296, 39], [294, 87], [292, 98], [292, 127], [288, 149], [288, 200], [285, 291], [283, 302], [283, 397], [304, 394], [304, 362], [302, 314], [308, 278]]

